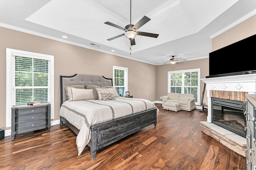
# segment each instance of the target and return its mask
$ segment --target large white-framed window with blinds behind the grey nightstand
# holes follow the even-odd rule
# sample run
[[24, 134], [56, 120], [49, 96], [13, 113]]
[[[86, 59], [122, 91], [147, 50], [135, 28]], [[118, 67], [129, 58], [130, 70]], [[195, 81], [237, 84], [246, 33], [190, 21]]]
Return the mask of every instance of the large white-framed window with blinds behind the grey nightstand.
[[6, 117], [11, 118], [12, 106], [29, 101], [50, 102], [53, 108], [53, 62], [50, 55], [6, 49]]

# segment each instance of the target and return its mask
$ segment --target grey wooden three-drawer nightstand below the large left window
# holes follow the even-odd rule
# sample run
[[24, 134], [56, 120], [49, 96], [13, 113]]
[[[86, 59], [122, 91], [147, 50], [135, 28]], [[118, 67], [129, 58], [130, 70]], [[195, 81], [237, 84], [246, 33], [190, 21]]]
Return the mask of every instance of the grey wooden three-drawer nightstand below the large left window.
[[30, 106], [27, 104], [12, 106], [12, 132], [15, 135], [36, 131], [51, 127], [51, 104], [41, 103], [40, 105]]

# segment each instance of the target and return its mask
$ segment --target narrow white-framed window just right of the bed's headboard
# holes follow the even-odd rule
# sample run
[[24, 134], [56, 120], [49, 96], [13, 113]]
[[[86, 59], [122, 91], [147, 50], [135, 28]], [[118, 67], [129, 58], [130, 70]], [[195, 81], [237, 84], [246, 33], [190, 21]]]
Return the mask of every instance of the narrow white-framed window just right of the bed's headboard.
[[114, 88], [121, 96], [125, 96], [128, 91], [128, 68], [113, 66]]

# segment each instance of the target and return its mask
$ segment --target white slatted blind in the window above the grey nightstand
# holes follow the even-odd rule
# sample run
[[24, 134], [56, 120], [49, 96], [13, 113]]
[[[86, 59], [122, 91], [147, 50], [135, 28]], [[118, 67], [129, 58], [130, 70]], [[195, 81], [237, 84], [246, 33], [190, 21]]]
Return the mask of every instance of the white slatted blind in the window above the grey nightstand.
[[50, 101], [50, 61], [12, 55], [12, 105]]

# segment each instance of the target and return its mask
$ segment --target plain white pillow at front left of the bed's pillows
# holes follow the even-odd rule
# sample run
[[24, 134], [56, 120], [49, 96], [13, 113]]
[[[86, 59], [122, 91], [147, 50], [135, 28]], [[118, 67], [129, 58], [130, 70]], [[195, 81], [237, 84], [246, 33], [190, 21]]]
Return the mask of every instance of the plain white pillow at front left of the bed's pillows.
[[68, 101], [77, 101], [77, 100], [91, 100], [94, 99], [92, 89], [80, 89], [68, 87]]

